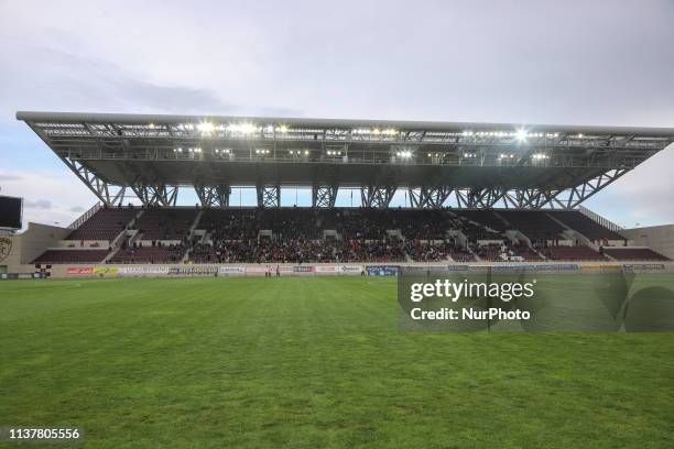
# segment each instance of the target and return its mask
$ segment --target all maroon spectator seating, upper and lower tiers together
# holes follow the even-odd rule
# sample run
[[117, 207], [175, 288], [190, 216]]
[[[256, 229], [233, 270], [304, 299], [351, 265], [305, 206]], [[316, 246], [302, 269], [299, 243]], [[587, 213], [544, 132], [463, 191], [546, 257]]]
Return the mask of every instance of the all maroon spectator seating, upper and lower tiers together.
[[[556, 241], [563, 239], [565, 230], [574, 230], [590, 240], [624, 240], [577, 211], [215, 208], [205, 209], [196, 222], [199, 215], [196, 207], [149, 208], [131, 226], [139, 211], [132, 207], [100, 208], [68, 239], [112, 240], [123, 229], [138, 230], [135, 236], [124, 239], [122, 249], [110, 260], [113, 263], [177, 262], [187, 252], [194, 263], [445, 261], [449, 258], [461, 262], [600, 261], [607, 258], [578, 241], [574, 242], [575, 247], [557, 245]], [[193, 226], [202, 232], [191, 239]], [[271, 231], [273, 237], [262, 233], [263, 230]], [[464, 241], [449, 237], [453, 236], [449, 231], [460, 231]], [[513, 244], [512, 234], [506, 237], [506, 231], [519, 231], [529, 240], [520, 239], [520, 243]], [[152, 245], [129, 244], [130, 240], [152, 241]], [[493, 243], [479, 244], [478, 240]], [[168, 241], [181, 243], [162, 245]], [[51, 250], [36, 262], [100, 262], [107, 251], [100, 252], [101, 258], [94, 253], [81, 255], [74, 250]], [[606, 250], [606, 254], [617, 260], [666, 260], [651, 250]]]

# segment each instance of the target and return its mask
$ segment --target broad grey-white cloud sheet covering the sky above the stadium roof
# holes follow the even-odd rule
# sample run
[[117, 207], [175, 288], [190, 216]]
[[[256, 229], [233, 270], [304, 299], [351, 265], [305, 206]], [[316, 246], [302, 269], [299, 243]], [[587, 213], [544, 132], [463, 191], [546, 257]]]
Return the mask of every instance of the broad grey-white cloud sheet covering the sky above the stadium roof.
[[[671, 2], [195, 4], [145, 1], [131, 18], [111, 1], [7, 2], [0, 35], [6, 52], [15, 50], [7, 61], [40, 95], [64, 90], [58, 109], [81, 109], [77, 91], [94, 84], [100, 90], [88, 106], [106, 111], [225, 106], [237, 113], [653, 125], [674, 118]], [[393, 25], [401, 21], [404, 30]], [[477, 33], [476, 23], [489, 31]], [[163, 90], [135, 98], [133, 86], [112, 98], [108, 81], [120, 72], [124, 85], [128, 76], [139, 87], [166, 88], [166, 99], [184, 88], [187, 99], [176, 95], [173, 108]], [[191, 88], [205, 91], [206, 102], [198, 95], [189, 101]]]

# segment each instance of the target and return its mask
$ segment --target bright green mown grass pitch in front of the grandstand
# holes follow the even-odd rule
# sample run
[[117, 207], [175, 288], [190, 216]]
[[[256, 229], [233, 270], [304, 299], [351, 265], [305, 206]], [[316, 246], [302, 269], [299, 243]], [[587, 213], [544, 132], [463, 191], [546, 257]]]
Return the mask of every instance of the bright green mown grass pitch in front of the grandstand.
[[398, 319], [394, 280], [0, 283], [0, 426], [116, 449], [674, 447], [673, 333]]

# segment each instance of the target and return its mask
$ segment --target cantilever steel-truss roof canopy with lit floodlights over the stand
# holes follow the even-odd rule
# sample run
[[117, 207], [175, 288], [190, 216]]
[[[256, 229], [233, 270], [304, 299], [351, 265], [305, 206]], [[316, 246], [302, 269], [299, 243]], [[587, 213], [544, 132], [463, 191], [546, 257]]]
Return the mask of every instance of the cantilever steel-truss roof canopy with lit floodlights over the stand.
[[674, 141], [670, 128], [18, 112], [101, 199], [131, 188], [144, 204], [194, 187], [205, 206], [254, 186], [311, 186], [316, 206], [339, 187], [363, 206], [406, 188], [418, 207], [572, 208]]

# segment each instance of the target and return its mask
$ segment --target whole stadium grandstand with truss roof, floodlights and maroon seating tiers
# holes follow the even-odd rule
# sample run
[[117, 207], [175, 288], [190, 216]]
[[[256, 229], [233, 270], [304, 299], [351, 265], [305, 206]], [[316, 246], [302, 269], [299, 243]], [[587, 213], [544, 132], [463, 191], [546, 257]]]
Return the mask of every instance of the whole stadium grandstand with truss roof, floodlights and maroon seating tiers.
[[[581, 204], [665, 149], [673, 129], [17, 118], [98, 199], [35, 263], [668, 260]], [[256, 207], [230, 205], [243, 187]], [[311, 188], [311, 207], [281, 207], [287, 187]], [[184, 188], [198, 205], [177, 205]], [[358, 207], [337, 207], [339, 189], [358, 190]], [[410, 207], [391, 207], [401, 190]]]

